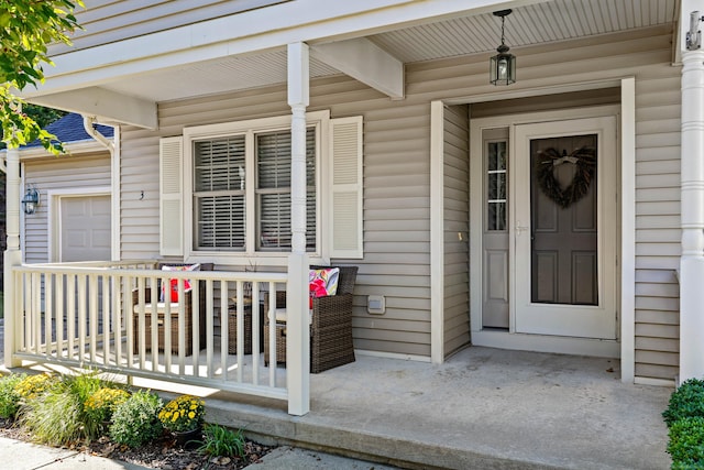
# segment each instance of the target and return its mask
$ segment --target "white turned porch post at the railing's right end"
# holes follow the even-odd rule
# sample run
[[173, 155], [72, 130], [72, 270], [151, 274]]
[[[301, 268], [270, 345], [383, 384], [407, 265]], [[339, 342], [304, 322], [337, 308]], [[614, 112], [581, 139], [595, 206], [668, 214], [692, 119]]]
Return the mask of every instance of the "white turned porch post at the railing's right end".
[[306, 107], [309, 102], [308, 45], [288, 45], [290, 120], [290, 226], [286, 298], [286, 369], [288, 413], [310, 411], [310, 330], [308, 325], [308, 255], [306, 254]]

